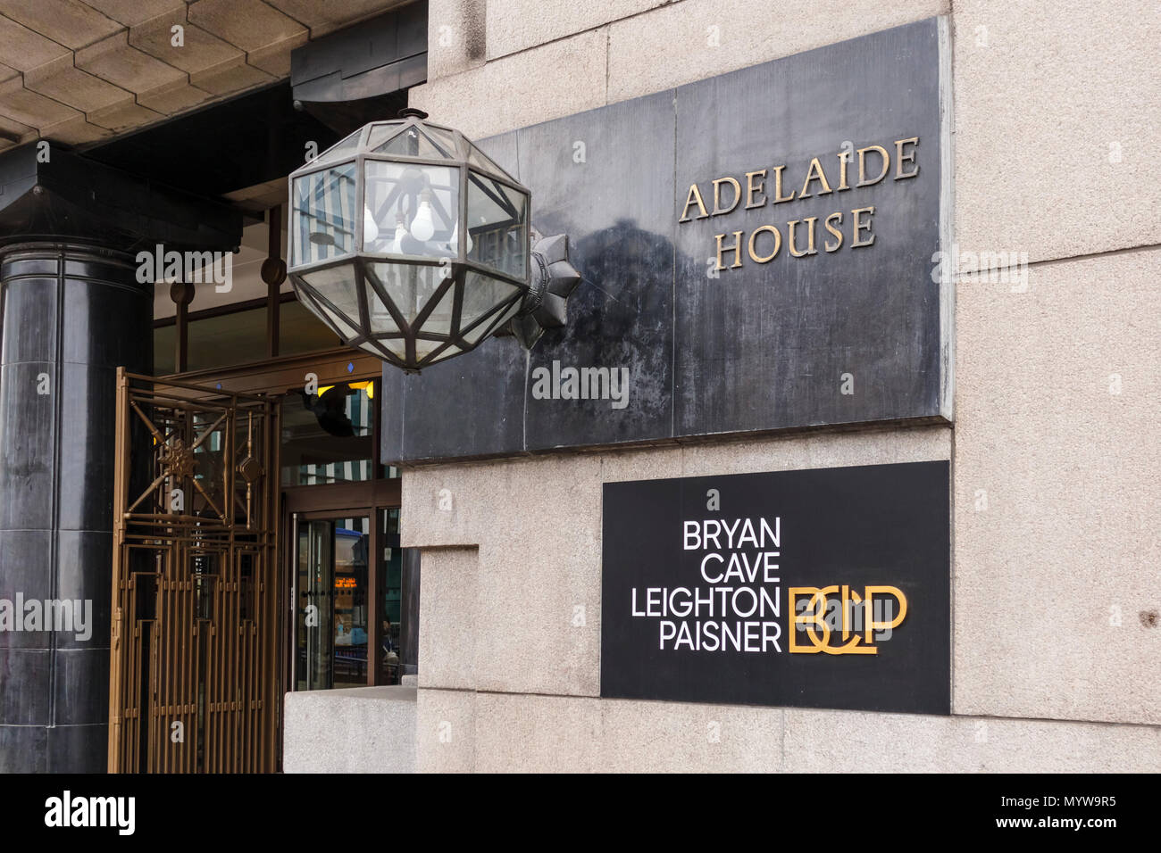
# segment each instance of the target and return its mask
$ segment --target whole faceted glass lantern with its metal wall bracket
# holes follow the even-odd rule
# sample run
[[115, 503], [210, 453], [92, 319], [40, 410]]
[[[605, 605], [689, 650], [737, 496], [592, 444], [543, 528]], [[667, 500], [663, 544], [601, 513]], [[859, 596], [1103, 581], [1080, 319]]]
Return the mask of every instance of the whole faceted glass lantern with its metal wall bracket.
[[[529, 191], [457, 130], [403, 110], [290, 175], [289, 275], [349, 346], [406, 370], [509, 328], [531, 347], [579, 281], [532, 246]], [[513, 319], [517, 324], [512, 324]]]

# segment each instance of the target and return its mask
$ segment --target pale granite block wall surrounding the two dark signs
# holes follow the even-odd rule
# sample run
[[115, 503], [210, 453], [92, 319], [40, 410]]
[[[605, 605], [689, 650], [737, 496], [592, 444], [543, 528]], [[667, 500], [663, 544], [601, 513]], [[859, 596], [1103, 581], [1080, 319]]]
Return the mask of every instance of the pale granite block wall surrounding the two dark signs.
[[[961, 265], [950, 425], [409, 468], [419, 769], [1156, 768], [1159, 14], [433, 0], [411, 102], [476, 138], [946, 16]], [[965, 253], [1024, 266], [988, 281]], [[929, 460], [952, 471], [951, 716], [599, 697], [601, 484]]]

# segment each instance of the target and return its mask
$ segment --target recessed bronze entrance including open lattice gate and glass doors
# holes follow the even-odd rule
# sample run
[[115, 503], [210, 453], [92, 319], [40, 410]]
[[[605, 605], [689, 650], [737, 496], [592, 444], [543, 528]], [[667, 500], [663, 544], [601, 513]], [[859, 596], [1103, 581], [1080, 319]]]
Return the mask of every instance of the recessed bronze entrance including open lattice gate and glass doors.
[[161, 318], [158, 362], [181, 369], [127, 377], [113, 772], [277, 771], [287, 692], [417, 673], [419, 561], [380, 460], [382, 363], [309, 315], [284, 346], [293, 298], [272, 285]]

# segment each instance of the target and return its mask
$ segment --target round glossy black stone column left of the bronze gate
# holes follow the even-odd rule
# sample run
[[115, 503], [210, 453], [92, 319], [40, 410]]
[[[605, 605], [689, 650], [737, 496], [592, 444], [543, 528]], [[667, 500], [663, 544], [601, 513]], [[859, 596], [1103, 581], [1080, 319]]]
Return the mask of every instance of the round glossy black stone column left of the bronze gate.
[[0, 630], [0, 772], [106, 769], [115, 374], [151, 373], [152, 301], [132, 255], [0, 250], [0, 607], [89, 608], [87, 638]]

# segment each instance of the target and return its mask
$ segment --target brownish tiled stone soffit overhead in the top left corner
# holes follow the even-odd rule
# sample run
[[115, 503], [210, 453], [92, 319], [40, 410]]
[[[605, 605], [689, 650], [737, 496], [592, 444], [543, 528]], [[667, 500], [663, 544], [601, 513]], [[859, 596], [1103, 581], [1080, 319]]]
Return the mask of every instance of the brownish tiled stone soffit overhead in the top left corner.
[[0, 151], [96, 144], [283, 80], [296, 48], [399, 5], [2, 0]]

